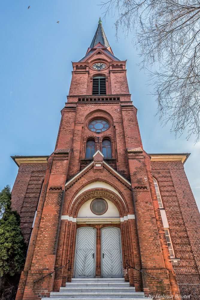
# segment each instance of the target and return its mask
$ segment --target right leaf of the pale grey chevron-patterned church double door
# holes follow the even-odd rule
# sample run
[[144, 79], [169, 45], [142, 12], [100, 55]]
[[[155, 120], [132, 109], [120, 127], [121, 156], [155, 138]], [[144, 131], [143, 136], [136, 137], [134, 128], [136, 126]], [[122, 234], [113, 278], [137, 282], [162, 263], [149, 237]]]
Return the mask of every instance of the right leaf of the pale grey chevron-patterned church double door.
[[123, 277], [120, 229], [116, 227], [103, 228], [101, 235], [102, 277]]

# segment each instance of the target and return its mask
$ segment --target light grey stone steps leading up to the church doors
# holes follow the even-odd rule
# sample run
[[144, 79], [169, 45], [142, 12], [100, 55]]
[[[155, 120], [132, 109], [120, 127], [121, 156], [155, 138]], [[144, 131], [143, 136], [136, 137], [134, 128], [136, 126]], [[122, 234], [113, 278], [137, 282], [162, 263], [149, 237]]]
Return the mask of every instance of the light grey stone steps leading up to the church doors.
[[135, 292], [135, 288], [125, 282], [124, 278], [72, 278], [60, 292], [51, 292], [50, 298], [43, 300], [142, 300], [143, 292]]

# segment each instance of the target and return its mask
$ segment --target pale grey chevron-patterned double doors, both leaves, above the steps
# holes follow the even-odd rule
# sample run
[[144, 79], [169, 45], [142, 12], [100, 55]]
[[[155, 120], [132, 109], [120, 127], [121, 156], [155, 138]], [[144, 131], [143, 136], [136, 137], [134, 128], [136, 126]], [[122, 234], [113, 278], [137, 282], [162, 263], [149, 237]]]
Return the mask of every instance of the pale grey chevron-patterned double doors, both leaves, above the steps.
[[122, 276], [120, 229], [101, 229], [101, 258], [96, 258], [96, 229], [81, 227], [77, 230], [74, 277], [95, 277], [96, 259], [101, 259], [101, 277]]

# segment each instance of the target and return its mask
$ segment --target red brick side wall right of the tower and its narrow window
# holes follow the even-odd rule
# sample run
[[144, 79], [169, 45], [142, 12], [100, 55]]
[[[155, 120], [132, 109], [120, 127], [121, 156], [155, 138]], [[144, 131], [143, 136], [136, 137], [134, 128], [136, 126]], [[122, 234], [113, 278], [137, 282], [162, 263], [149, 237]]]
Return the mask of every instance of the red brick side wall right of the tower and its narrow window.
[[[188, 162], [187, 162], [188, 163]], [[200, 215], [181, 161], [152, 161], [175, 252], [172, 262], [180, 290], [200, 284]]]

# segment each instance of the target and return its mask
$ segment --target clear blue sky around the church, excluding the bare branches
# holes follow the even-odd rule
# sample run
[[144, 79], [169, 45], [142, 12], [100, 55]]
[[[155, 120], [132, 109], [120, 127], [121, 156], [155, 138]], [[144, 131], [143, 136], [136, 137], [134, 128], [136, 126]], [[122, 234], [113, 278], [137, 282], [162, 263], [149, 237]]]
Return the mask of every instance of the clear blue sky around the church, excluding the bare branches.
[[[60, 110], [71, 82], [71, 61], [80, 60], [90, 46], [99, 16], [100, 1], [8, 0], [0, 2], [1, 22], [1, 164], [0, 189], [13, 186], [18, 168], [10, 155], [49, 155], [53, 152]], [[28, 6], [30, 5], [30, 9]], [[57, 24], [57, 21], [59, 23]], [[119, 33], [115, 18], [102, 25], [114, 55], [127, 59], [127, 77], [143, 147], [148, 153], [191, 153], [185, 171], [200, 208], [200, 143], [194, 137], [175, 139], [170, 125], [162, 127], [155, 117], [148, 76], [139, 70], [140, 58], [131, 35]]]

